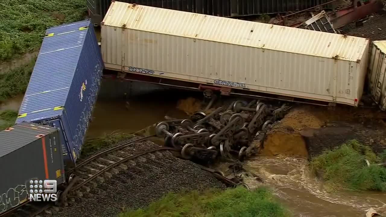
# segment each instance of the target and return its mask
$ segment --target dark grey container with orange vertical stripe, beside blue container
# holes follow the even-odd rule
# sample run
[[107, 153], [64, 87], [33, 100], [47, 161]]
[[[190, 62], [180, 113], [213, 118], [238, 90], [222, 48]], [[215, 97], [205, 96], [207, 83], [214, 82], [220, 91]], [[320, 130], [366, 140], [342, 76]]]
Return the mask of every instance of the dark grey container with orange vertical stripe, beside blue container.
[[0, 132], [0, 214], [28, 200], [31, 179], [64, 176], [58, 129], [22, 122]]

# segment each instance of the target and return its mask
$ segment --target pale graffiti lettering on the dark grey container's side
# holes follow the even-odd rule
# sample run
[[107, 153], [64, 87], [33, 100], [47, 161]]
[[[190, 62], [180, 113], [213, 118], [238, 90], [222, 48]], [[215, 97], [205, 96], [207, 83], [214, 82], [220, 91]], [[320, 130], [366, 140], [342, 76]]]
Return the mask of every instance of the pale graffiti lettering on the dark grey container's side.
[[0, 194], [0, 213], [19, 205], [27, 200], [28, 191], [25, 185], [17, 185], [9, 188], [7, 192]]

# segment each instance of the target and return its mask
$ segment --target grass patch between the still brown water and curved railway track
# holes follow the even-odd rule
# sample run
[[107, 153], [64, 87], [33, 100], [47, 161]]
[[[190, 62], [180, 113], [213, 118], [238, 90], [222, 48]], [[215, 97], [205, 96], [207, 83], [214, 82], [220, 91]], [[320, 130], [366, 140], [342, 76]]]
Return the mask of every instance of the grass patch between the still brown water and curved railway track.
[[82, 154], [87, 154], [91, 151], [98, 151], [104, 147], [111, 146], [120, 141], [131, 139], [132, 137], [134, 137], [132, 134], [112, 133], [93, 139], [87, 139], [83, 145]]

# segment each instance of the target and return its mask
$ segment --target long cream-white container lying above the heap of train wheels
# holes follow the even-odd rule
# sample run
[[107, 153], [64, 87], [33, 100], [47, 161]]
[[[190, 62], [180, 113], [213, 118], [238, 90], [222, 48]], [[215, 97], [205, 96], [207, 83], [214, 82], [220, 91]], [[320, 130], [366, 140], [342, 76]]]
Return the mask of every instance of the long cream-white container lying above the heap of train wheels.
[[357, 106], [369, 40], [113, 2], [101, 25], [110, 70]]

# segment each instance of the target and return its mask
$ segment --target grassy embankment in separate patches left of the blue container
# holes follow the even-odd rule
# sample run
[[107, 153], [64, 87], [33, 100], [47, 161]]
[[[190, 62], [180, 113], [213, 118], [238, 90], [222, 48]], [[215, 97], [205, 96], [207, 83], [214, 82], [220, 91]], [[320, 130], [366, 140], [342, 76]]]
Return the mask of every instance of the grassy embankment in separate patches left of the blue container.
[[[0, 1], [0, 63], [37, 51], [48, 27], [83, 19], [84, 0]], [[0, 72], [0, 103], [24, 93], [36, 59]], [[15, 112], [0, 112], [0, 130], [12, 125]]]

